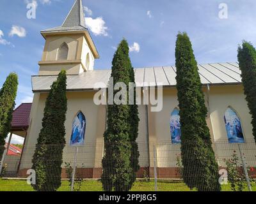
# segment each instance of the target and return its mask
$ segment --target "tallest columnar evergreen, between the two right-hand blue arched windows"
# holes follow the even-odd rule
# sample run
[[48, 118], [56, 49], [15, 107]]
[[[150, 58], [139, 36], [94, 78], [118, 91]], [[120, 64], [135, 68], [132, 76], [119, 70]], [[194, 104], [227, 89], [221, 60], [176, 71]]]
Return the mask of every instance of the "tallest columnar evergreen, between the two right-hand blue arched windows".
[[218, 164], [205, 117], [204, 93], [189, 37], [177, 35], [177, 91], [180, 108], [181, 152], [184, 182], [198, 191], [220, 191]]

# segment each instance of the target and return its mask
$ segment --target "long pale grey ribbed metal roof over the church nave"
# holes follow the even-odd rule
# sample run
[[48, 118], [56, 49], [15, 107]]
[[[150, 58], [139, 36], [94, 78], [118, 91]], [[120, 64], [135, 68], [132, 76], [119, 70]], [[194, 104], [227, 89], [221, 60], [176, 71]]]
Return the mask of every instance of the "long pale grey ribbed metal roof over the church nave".
[[[218, 64], [199, 64], [198, 71], [202, 84], [241, 84], [241, 71], [236, 62]], [[176, 85], [176, 68], [174, 66], [136, 68], [135, 82], [138, 87], [143, 85]], [[94, 87], [106, 88], [111, 69], [84, 71], [81, 75], [67, 76], [68, 91], [92, 90]], [[33, 76], [32, 89], [34, 92], [49, 91], [57, 76]], [[99, 84], [100, 83], [100, 84]]]

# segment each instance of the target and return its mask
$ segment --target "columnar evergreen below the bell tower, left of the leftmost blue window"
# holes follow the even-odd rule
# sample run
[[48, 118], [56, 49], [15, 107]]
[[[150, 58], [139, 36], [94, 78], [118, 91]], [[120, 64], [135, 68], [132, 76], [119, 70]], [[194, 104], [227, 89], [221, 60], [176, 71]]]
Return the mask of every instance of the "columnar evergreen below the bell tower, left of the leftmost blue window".
[[62, 154], [66, 143], [66, 82], [66, 71], [61, 71], [45, 101], [42, 129], [32, 160], [32, 168], [36, 171], [36, 184], [32, 186], [36, 191], [56, 191], [61, 186]]

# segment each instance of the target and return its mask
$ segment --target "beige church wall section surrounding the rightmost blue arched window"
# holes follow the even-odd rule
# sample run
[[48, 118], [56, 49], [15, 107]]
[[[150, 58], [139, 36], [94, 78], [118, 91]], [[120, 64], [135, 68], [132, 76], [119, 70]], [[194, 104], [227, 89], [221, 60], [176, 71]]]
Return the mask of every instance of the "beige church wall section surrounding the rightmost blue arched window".
[[214, 131], [214, 151], [218, 164], [225, 166], [223, 159], [228, 159], [236, 151], [239, 154], [239, 144], [228, 143], [227, 131], [224, 122], [224, 113], [228, 106], [236, 111], [241, 120], [245, 143], [240, 144], [240, 149], [246, 157], [246, 163], [256, 166], [256, 147], [252, 135], [252, 117], [243, 94], [242, 85], [226, 85], [210, 87], [209, 103], [211, 107], [212, 128]]

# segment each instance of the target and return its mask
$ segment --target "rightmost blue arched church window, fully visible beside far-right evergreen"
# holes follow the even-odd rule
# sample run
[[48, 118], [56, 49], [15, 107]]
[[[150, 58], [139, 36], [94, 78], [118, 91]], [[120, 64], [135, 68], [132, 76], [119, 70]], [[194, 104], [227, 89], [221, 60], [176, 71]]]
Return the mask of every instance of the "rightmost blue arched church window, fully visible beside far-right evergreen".
[[237, 113], [230, 107], [228, 107], [225, 112], [224, 122], [227, 131], [228, 142], [244, 143], [241, 120], [239, 119]]

